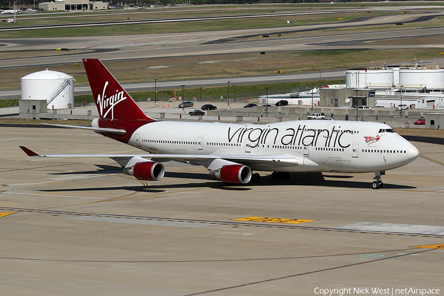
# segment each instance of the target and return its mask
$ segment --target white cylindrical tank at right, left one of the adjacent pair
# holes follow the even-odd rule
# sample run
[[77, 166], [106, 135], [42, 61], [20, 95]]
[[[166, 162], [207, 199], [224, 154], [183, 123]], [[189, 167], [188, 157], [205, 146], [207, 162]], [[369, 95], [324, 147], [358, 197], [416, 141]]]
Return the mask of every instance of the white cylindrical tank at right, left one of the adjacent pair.
[[393, 69], [350, 69], [345, 71], [347, 88], [391, 87], [394, 83]]

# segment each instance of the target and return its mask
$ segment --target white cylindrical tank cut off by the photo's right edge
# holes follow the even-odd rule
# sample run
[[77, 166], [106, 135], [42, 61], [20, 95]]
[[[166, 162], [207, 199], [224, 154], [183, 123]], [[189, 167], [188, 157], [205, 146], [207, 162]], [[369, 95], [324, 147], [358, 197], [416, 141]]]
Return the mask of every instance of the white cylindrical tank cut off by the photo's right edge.
[[399, 69], [399, 84], [405, 88], [444, 88], [444, 69], [412, 67]]

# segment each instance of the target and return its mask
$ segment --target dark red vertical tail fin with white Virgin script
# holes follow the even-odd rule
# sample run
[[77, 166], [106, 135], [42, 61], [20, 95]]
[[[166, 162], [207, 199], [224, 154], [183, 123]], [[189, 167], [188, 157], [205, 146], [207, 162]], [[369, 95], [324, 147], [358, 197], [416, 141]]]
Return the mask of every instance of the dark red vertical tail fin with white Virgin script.
[[134, 102], [99, 59], [83, 59], [83, 65], [100, 118], [154, 121]]

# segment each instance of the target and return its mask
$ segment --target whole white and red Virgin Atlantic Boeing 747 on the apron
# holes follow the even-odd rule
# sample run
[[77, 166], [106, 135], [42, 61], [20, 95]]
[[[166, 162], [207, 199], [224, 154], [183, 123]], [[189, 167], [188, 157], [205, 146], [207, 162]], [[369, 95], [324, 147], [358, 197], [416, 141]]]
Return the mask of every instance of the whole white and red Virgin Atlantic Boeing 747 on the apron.
[[[138, 180], [160, 180], [161, 162], [202, 165], [226, 184], [288, 179], [290, 172], [370, 173], [372, 188], [381, 175], [412, 162], [419, 152], [390, 126], [375, 122], [299, 120], [270, 124], [159, 121], [148, 117], [98, 59], [84, 59], [100, 118], [82, 128], [139, 148], [144, 154], [53, 154], [35, 157], [110, 157]], [[56, 125], [56, 124], [54, 124]]]

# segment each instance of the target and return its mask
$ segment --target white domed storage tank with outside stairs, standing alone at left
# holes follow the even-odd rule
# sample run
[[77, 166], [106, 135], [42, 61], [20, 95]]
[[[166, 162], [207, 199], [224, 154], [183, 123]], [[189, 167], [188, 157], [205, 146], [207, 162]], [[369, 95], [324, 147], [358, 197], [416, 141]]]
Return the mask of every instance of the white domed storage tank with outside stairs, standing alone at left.
[[74, 107], [74, 77], [62, 72], [40, 71], [21, 78], [22, 100], [46, 100], [48, 109]]

